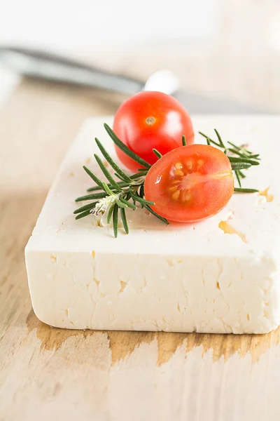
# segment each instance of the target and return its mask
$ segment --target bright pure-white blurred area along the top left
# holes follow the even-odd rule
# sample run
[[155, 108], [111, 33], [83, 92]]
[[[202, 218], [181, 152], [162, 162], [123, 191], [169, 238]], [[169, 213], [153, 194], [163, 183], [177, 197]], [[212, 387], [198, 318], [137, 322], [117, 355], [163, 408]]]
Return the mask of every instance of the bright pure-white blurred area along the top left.
[[209, 38], [221, 0], [1, 1], [0, 40], [110, 51], [162, 39]]

